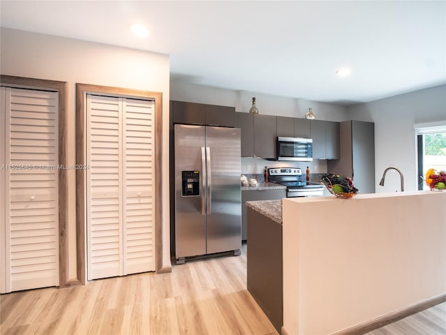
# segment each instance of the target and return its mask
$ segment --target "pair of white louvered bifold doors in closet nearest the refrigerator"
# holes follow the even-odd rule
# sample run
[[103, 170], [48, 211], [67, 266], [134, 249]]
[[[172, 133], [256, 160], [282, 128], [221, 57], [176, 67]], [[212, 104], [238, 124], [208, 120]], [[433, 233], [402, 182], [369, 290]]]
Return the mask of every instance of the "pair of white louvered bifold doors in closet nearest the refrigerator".
[[88, 278], [154, 271], [153, 103], [87, 96]]

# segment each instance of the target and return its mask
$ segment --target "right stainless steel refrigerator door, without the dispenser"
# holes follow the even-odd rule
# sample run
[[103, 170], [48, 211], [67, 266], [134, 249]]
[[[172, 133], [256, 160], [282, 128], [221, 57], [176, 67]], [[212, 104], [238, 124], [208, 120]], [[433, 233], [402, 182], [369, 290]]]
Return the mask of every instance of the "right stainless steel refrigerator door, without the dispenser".
[[240, 249], [240, 129], [206, 127], [208, 198], [207, 253]]

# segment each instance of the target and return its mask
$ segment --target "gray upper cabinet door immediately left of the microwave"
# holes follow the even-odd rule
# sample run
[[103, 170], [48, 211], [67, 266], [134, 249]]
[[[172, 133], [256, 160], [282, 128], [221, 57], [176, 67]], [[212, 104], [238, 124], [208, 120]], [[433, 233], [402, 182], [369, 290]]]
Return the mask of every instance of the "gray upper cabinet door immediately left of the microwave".
[[254, 115], [254, 155], [263, 158], [275, 158], [276, 137], [276, 117]]

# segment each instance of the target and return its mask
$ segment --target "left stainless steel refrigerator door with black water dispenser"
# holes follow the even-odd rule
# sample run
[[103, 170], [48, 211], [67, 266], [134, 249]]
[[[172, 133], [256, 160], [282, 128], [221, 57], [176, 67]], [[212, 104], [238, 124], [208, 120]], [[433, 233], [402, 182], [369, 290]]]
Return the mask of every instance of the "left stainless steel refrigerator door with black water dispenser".
[[[206, 254], [205, 127], [176, 124], [175, 138], [175, 257]], [[199, 195], [183, 196], [183, 171], [199, 172]], [[185, 174], [183, 174], [184, 176]]]

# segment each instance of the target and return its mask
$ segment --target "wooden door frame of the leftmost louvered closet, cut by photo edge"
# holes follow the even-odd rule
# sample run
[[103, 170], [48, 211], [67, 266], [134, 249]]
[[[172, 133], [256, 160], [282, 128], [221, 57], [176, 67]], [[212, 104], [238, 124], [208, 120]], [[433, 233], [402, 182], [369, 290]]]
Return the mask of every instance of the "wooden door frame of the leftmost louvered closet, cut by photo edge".
[[[52, 89], [59, 95], [59, 166], [68, 164], [66, 136], [68, 113], [68, 83], [27, 77], [0, 75], [0, 82], [19, 89]], [[59, 169], [59, 287], [78, 285], [77, 279], [69, 278], [68, 267], [68, 177], [66, 169]]]

